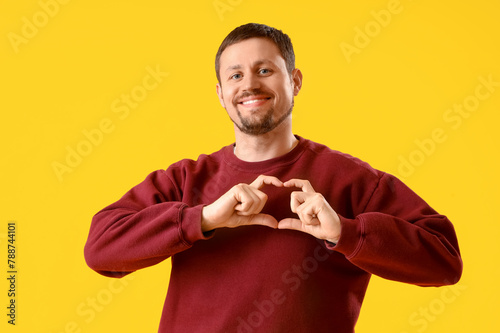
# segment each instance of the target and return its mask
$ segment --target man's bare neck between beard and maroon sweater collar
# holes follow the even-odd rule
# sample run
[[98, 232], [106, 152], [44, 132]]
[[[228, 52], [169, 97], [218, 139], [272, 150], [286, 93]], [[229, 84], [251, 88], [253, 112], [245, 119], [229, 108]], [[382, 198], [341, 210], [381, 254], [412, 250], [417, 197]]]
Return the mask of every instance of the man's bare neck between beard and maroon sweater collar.
[[245, 134], [235, 126], [236, 157], [247, 162], [260, 162], [291, 151], [298, 140], [292, 133], [291, 124], [286, 123], [285, 121], [271, 132], [262, 135]]

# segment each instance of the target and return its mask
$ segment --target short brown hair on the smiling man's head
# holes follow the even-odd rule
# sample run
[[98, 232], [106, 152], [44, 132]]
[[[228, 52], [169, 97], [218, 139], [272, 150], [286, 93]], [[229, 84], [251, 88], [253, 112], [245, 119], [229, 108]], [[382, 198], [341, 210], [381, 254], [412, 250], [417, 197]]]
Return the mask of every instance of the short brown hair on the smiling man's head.
[[281, 30], [272, 28], [265, 24], [258, 23], [247, 23], [242, 26], [237, 27], [226, 36], [219, 46], [217, 55], [215, 56], [215, 73], [217, 75], [217, 80], [220, 83], [220, 57], [224, 50], [233, 44], [241, 42], [250, 38], [268, 38], [270, 39], [278, 49], [280, 50], [281, 56], [285, 59], [286, 69], [288, 73], [292, 73], [295, 68], [295, 53], [293, 52], [293, 45], [290, 37], [283, 33]]

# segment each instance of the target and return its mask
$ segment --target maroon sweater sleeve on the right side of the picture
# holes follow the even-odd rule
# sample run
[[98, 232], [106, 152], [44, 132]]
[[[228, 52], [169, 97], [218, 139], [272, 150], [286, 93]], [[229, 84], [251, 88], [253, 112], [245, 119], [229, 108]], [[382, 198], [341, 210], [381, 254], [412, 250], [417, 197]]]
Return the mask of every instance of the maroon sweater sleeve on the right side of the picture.
[[327, 246], [367, 272], [420, 286], [460, 279], [453, 225], [397, 178], [382, 174], [363, 212], [340, 219], [341, 237]]

